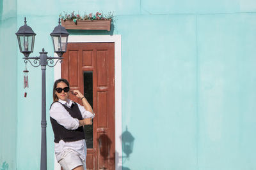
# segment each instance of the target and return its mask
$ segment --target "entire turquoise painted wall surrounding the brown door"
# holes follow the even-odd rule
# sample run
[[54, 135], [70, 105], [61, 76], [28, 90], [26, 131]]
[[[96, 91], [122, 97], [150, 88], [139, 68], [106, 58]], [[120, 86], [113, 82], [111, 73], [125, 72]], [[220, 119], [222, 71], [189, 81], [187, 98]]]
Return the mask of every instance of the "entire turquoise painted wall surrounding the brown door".
[[[17, 13], [17, 18], [7, 19], [4, 27], [2, 14], [1, 35], [12, 28], [12, 38], [6, 38], [8, 43], [1, 40], [1, 59], [3, 52], [13, 53], [14, 58], [4, 60], [17, 62], [17, 67], [1, 62], [0, 73], [7, 82], [1, 87], [11, 91], [6, 90], [1, 104], [14, 104], [7, 115], [1, 110], [0, 135], [8, 134], [2, 127], [15, 121], [17, 130], [15, 124], [7, 130], [14, 132], [1, 138], [0, 148], [7, 153], [9, 144], [4, 143], [17, 141], [17, 159], [8, 158], [16, 154], [16, 147], [6, 159], [0, 152], [0, 167], [4, 161], [9, 167], [17, 162], [18, 170], [40, 167], [41, 70], [29, 64], [28, 97], [24, 98], [24, 62], [14, 34], [24, 17], [36, 33], [30, 56], [39, 55], [43, 47], [53, 55], [49, 34], [62, 11], [114, 11], [111, 32], [70, 33], [122, 35], [122, 125], [134, 137], [129, 158], [123, 153], [123, 169], [256, 169], [255, 1], [17, 0], [11, 4], [17, 12], [16, 7], [4, 10]], [[50, 67], [46, 72], [48, 109], [54, 73]], [[49, 117], [47, 123], [47, 162], [48, 169], [53, 169]]]

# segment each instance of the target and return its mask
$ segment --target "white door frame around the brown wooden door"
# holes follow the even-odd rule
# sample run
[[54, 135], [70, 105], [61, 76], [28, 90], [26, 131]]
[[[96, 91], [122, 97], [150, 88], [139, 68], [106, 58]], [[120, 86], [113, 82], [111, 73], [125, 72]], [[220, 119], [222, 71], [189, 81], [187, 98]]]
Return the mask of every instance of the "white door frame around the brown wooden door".
[[[122, 39], [121, 35], [68, 36], [68, 43], [115, 43], [115, 169], [122, 170]], [[58, 57], [54, 53], [54, 57]], [[61, 64], [54, 67], [54, 81], [61, 78]], [[54, 170], [60, 164], [54, 160]]]

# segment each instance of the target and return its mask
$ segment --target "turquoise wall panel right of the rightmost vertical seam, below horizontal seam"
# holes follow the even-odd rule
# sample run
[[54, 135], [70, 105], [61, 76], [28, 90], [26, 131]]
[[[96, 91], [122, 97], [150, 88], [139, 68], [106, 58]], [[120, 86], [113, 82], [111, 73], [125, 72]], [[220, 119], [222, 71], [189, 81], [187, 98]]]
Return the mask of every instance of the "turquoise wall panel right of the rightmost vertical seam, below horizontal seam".
[[255, 13], [198, 17], [202, 169], [256, 168], [255, 20]]

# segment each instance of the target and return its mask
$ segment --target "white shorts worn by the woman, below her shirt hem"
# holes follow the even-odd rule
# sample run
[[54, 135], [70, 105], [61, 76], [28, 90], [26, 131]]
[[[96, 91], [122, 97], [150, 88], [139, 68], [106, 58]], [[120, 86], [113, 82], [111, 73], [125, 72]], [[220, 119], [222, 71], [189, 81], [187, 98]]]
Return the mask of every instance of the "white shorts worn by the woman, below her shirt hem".
[[78, 166], [83, 166], [83, 168], [86, 169], [86, 164], [79, 157], [79, 153], [74, 150], [68, 150], [62, 158], [63, 159], [59, 161], [59, 164], [63, 167], [63, 170], [72, 170]]

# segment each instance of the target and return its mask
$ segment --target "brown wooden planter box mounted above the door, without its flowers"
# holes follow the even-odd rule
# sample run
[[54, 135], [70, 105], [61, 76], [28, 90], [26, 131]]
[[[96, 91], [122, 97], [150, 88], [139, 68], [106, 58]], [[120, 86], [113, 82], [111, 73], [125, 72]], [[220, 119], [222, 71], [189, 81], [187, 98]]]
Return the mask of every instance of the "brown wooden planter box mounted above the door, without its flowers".
[[111, 20], [61, 20], [61, 25], [65, 29], [83, 29], [83, 30], [108, 30], [111, 28]]

